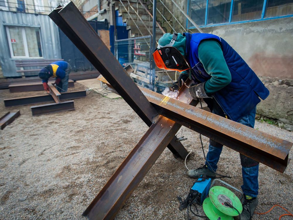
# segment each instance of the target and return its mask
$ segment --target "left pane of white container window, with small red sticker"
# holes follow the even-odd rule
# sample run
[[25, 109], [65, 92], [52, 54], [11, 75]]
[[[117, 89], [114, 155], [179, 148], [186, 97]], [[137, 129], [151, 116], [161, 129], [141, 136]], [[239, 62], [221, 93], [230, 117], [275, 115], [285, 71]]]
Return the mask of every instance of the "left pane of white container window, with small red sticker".
[[25, 50], [23, 45], [23, 38], [22, 38], [22, 31], [19, 27], [9, 27], [10, 38], [8, 39], [11, 41], [13, 56], [21, 57], [25, 56]]

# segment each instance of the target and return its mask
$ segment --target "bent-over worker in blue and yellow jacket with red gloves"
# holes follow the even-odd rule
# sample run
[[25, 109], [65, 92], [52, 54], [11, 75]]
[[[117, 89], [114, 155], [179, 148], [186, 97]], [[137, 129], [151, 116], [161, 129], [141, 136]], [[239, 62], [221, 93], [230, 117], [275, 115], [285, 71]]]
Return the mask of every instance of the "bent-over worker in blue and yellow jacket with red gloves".
[[56, 78], [55, 85], [59, 92], [67, 92], [68, 79], [71, 66], [65, 61], [52, 62], [40, 70], [39, 77], [42, 79], [45, 91], [49, 92], [48, 80], [50, 77]]

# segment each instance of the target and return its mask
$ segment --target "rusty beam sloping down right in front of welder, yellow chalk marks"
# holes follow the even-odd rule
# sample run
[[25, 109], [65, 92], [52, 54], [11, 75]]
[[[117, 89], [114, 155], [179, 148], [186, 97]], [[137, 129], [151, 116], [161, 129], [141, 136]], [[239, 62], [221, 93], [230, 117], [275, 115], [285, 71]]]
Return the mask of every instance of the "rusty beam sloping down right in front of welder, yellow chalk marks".
[[293, 143], [148, 89], [141, 90], [161, 115], [279, 172], [285, 171]]

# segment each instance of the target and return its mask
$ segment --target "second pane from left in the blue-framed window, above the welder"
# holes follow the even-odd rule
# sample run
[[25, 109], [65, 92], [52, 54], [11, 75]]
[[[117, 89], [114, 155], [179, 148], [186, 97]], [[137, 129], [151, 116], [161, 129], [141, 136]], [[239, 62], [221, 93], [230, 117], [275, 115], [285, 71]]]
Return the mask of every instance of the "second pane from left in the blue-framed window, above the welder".
[[231, 0], [209, 0], [208, 24], [229, 22]]

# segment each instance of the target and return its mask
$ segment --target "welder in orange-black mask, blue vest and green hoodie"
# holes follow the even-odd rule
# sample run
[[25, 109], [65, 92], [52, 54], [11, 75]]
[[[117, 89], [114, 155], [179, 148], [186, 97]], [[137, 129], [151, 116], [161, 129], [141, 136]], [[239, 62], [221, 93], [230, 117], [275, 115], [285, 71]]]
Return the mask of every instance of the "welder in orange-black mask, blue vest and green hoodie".
[[[205, 33], [166, 33], [158, 43], [153, 56], [159, 68], [186, 70], [170, 87], [171, 90], [180, 88], [181, 79], [185, 81], [190, 77], [194, 83], [189, 88], [193, 99], [203, 98], [212, 113], [254, 127], [259, 97], [267, 98], [269, 91], [224, 39]], [[189, 170], [188, 176], [199, 178], [206, 175], [215, 178], [222, 148], [222, 144], [210, 139], [205, 165]], [[245, 195], [241, 220], [248, 220], [258, 204], [259, 163], [242, 154], [240, 160], [243, 177], [241, 188]], [[239, 216], [234, 219], [239, 219]]]

